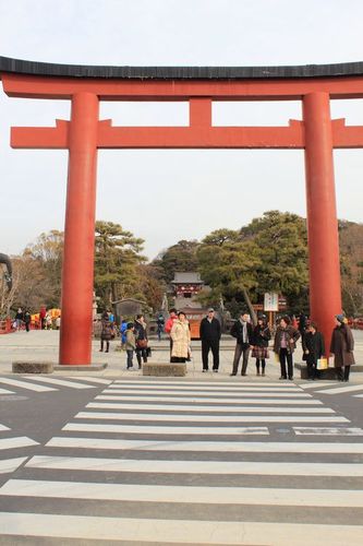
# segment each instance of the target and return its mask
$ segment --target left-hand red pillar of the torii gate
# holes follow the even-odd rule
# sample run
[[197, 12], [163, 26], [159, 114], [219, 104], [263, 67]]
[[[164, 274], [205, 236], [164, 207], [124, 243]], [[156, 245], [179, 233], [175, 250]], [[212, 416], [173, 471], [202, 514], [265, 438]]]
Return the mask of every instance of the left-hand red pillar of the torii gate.
[[59, 348], [64, 365], [90, 363], [98, 108], [93, 93], [72, 97]]

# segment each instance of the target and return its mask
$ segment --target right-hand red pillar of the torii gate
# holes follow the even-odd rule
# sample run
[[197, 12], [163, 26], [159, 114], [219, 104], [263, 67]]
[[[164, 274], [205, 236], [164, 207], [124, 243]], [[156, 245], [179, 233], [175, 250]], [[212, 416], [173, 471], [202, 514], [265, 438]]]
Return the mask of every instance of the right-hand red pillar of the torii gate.
[[303, 98], [311, 316], [329, 354], [334, 316], [341, 312], [339, 241], [328, 93]]

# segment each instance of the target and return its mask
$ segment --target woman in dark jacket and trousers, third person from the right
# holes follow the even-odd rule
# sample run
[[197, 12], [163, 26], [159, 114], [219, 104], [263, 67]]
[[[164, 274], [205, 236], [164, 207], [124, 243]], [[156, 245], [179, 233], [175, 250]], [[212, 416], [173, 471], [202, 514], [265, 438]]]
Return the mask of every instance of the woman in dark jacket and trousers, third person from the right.
[[[282, 317], [277, 327], [275, 340], [274, 340], [274, 352], [278, 355], [280, 360], [281, 376], [280, 379], [293, 379], [293, 364], [292, 354], [297, 348], [297, 341], [300, 337], [300, 332], [293, 328], [290, 323], [289, 317]], [[288, 373], [286, 369], [286, 364], [288, 363]]]

